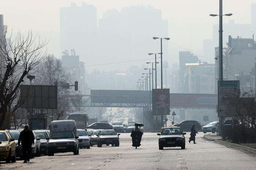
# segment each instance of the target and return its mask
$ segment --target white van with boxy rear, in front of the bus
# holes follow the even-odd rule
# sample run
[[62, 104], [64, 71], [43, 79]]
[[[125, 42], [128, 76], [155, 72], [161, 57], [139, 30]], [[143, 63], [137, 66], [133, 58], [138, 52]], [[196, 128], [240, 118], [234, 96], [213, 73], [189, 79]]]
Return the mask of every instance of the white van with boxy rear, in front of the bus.
[[79, 143], [74, 120], [52, 121], [50, 125], [48, 156], [54, 153], [74, 152], [79, 154]]

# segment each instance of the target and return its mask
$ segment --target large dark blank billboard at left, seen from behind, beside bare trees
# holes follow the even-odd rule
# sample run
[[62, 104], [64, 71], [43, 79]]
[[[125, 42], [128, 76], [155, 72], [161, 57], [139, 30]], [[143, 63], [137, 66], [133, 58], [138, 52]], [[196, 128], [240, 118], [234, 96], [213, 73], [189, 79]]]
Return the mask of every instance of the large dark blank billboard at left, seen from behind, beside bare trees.
[[20, 85], [21, 108], [57, 109], [57, 86]]

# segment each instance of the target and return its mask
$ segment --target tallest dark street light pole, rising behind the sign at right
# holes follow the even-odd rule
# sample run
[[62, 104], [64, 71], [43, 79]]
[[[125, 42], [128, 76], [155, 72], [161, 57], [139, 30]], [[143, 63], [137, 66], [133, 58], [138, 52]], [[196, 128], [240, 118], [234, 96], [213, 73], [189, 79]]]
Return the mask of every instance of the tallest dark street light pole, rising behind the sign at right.
[[[219, 0], [219, 15], [210, 14], [210, 16], [219, 16], [219, 80], [223, 80], [223, 26], [222, 26], [222, 17], [231, 16], [233, 14], [222, 13], [222, 0]], [[219, 103], [218, 103], [219, 105]], [[218, 110], [219, 113], [219, 110]], [[219, 133], [222, 136], [222, 117], [219, 117]]]

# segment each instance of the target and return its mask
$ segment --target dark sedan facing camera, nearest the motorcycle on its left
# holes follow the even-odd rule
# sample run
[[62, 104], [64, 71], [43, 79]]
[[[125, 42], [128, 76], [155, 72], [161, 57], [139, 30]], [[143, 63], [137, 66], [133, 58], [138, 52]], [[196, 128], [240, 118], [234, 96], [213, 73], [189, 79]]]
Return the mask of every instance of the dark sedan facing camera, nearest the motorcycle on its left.
[[98, 144], [97, 147], [102, 147], [103, 144], [109, 146], [119, 146], [119, 135], [115, 130], [101, 130], [97, 136]]

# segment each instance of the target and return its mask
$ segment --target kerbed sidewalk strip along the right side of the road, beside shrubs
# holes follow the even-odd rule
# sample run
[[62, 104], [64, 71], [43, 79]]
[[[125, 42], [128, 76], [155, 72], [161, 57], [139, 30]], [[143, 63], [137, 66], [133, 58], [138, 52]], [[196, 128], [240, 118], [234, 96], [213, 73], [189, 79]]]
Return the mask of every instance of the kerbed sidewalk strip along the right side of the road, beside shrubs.
[[215, 143], [227, 145], [230, 147], [233, 147], [235, 149], [242, 149], [248, 152], [252, 152], [253, 154], [256, 154], [256, 149], [248, 146], [243, 146], [242, 144], [235, 144], [235, 143], [230, 143], [228, 141], [223, 141], [221, 136], [217, 136], [217, 134], [207, 134], [204, 135], [204, 138], [206, 140], [214, 141]]

